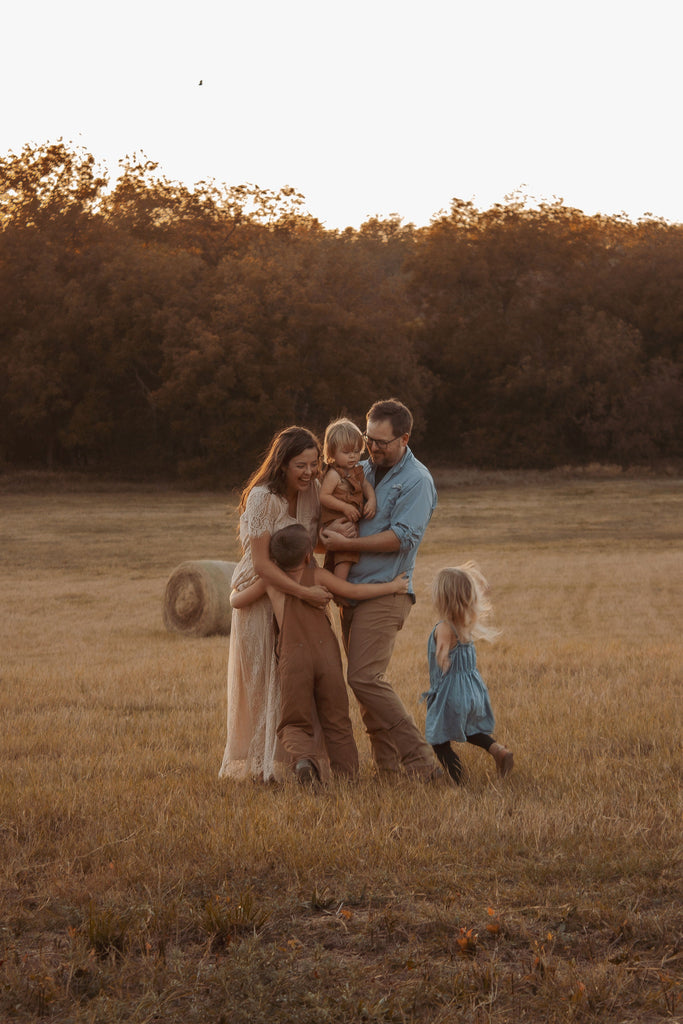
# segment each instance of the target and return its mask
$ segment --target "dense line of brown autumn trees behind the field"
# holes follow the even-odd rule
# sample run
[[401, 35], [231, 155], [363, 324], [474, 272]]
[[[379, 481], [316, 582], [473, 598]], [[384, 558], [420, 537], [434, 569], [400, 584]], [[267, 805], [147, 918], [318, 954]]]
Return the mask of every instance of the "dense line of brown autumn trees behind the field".
[[63, 142], [0, 182], [0, 467], [231, 484], [390, 395], [451, 465], [683, 455], [683, 225], [512, 196], [330, 230], [292, 188]]

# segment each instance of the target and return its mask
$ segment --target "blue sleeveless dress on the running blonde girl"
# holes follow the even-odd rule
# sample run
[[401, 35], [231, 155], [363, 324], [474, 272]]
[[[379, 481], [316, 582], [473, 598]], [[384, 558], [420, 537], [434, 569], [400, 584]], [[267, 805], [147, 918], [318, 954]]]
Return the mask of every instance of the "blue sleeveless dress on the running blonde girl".
[[435, 633], [436, 626], [427, 643], [429, 689], [422, 694], [427, 701], [427, 742], [445, 743], [455, 739], [464, 743], [475, 732], [490, 734], [496, 722], [486, 684], [477, 671], [474, 643], [459, 641], [452, 647], [451, 664], [441, 672], [436, 660]]

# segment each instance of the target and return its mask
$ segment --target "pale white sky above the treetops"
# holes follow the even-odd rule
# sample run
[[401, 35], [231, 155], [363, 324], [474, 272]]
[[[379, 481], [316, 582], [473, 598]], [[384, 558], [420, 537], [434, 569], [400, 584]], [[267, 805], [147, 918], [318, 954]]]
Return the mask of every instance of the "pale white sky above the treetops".
[[[143, 152], [293, 185], [328, 227], [520, 186], [683, 222], [679, 0], [32, 0], [0, 15], [0, 155]], [[202, 79], [204, 84], [198, 83]]]

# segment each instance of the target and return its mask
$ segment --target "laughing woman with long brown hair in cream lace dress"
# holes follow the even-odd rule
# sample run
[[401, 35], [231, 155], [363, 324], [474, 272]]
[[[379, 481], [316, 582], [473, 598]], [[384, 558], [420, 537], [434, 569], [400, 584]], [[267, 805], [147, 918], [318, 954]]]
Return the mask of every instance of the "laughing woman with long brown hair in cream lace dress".
[[[294, 522], [302, 523], [313, 546], [316, 544], [319, 458], [319, 442], [304, 427], [287, 427], [273, 437], [265, 459], [242, 494], [239, 511], [243, 556], [232, 575], [234, 589], [241, 590], [260, 577], [316, 607], [325, 607], [330, 600], [332, 595], [325, 587], [302, 587], [268, 555], [271, 535]], [[232, 611], [227, 741], [219, 772], [223, 777], [252, 776], [268, 781], [283, 772], [286, 759], [284, 755], [280, 758], [278, 752], [280, 689], [275, 670], [272, 608], [268, 598], [262, 597]]]

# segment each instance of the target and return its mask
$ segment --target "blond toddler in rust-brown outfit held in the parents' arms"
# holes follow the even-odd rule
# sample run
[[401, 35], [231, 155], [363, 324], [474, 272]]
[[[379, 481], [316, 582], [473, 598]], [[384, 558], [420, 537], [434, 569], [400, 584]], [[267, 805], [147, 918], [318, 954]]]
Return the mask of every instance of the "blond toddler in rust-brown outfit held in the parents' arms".
[[[362, 434], [350, 420], [335, 420], [325, 431], [322, 527], [340, 518], [353, 523], [360, 518], [372, 519], [377, 512], [375, 492], [358, 466], [362, 449]], [[346, 580], [351, 564], [357, 560], [355, 551], [330, 551], [325, 567], [340, 580]]]

